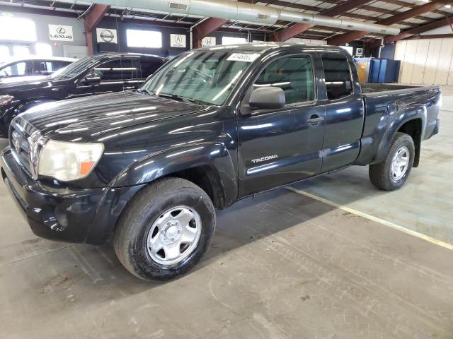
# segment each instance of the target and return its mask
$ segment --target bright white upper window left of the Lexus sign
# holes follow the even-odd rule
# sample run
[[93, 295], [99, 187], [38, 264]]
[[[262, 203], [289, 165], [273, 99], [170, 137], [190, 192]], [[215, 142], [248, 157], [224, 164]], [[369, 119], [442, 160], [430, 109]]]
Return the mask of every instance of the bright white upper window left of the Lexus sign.
[[0, 40], [36, 41], [33, 20], [0, 16]]

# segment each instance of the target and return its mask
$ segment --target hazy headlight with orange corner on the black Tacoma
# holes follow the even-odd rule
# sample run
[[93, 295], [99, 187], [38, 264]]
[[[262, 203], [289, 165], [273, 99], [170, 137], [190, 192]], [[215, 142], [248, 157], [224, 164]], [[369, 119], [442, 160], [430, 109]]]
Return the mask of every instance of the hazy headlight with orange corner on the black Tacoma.
[[40, 153], [38, 174], [61, 182], [82, 179], [96, 167], [103, 151], [102, 143], [47, 141]]

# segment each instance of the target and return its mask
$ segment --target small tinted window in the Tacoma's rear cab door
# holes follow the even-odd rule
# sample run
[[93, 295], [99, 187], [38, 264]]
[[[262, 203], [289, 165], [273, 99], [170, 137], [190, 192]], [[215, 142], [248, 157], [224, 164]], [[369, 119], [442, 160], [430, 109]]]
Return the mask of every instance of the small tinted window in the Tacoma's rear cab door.
[[328, 99], [337, 100], [351, 95], [354, 89], [348, 59], [340, 54], [323, 54], [321, 58]]

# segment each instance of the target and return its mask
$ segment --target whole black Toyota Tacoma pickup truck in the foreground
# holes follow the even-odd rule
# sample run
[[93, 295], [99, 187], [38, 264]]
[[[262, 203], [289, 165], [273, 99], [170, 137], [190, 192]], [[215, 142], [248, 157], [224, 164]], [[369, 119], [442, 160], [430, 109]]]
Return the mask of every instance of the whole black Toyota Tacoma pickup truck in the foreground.
[[241, 198], [350, 165], [400, 188], [441, 102], [436, 86], [361, 86], [338, 47], [196, 49], [137, 91], [14, 118], [1, 176], [38, 236], [113, 236], [127, 270], [168, 280], [207, 251], [215, 210]]

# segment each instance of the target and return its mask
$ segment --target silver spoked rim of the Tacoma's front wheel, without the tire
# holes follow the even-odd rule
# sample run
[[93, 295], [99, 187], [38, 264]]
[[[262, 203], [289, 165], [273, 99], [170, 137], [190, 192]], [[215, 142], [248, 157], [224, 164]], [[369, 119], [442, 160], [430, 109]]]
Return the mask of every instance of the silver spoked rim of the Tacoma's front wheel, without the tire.
[[201, 218], [187, 206], [166, 210], [154, 221], [148, 233], [147, 248], [151, 258], [161, 265], [180, 263], [197, 247]]

